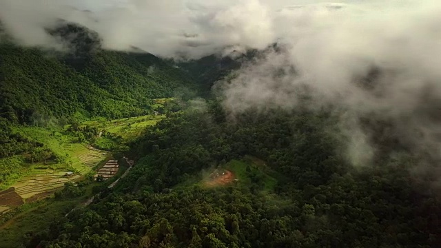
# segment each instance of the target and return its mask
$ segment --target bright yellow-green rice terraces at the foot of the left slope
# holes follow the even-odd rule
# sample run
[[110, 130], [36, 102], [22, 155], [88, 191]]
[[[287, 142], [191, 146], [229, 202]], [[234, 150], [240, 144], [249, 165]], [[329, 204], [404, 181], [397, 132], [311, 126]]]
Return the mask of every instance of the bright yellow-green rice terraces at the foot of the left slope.
[[[65, 183], [81, 180], [86, 174], [98, 173], [97, 170], [112, 158], [108, 151], [122, 140], [139, 135], [145, 127], [155, 125], [165, 118], [163, 107], [167, 101], [170, 99], [154, 100], [154, 114], [116, 120], [96, 118], [81, 121], [76, 124], [74, 131], [72, 125], [65, 125], [62, 130], [17, 127], [14, 132], [41, 143], [44, 151], [41, 161], [37, 162], [33, 161], [33, 154], [0, 158], [0, 168], [2, 164], [17, 165], [17, 169], [8, 175], [8, 180], [0, 180], [0, 190], [3, 190], [0, 192], [0, 214], [12, 207], [51, 196]], [[96, 130], [92, 142], [79, 138], [88, 130]]]

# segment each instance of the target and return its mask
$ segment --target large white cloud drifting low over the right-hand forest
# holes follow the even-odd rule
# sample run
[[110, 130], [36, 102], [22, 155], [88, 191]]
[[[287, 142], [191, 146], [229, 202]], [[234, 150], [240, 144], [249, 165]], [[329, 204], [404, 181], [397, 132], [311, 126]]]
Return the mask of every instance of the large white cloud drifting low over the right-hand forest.
[[232, 115], [251, 107], [289, 109], [307, 89], [312, 109], [338, 109], [354, 165], [371, 163], [384, 152], [381, 143], [402, 147], [420, 163], [438, 163], [441, 4], [415, 3], [280, 10], [276, 23], [292, 25], [285, 22], [279, 48], [216, 85], [225, 109]]

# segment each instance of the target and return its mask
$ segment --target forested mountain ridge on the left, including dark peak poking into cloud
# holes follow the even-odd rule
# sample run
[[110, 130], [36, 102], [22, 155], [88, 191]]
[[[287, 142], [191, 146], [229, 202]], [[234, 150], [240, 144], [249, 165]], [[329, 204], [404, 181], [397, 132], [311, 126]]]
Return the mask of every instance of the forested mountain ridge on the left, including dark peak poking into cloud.
[[51, 162], [61, 159], [58, 155], [55, 159], [53, 147], [44, 142], [54, 137], [41, 136], [37, 141], [21, 127], [43, 127], [44, 134], [54, 134], [66, 124], [90, 118], [154, 114], [158, 105], [154, 99], [185, 99], [199, 91], [172, 63], [143, 51], [103, 50], [98, 34], [81, 25], [60, 21], [47, 30], [63, 46], [61, 51], [17, 45], [7, 31], [0, 34], [2, 184], [17, 180], [19, 172], [32, 167], [36, 161], [31, 154], [52, 154]]

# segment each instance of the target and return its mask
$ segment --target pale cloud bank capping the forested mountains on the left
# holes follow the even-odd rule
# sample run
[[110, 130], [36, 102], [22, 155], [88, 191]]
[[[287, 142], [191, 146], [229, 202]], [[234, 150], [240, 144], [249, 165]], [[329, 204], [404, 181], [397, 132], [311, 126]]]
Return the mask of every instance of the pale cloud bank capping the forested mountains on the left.
[[60, 44], [45, 28], [59, 19], [98, 32], [103, 48], [136, 47], [158, 56], [198, 58], [232, 45], [262, 49], [274, 41], [271, 9], [258, 0], [114, 2], [85, 11], [67, 0], [1, 0], [0, 19], [21, 44], [50, 48]]

